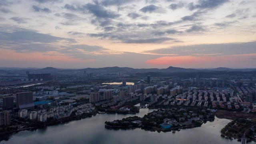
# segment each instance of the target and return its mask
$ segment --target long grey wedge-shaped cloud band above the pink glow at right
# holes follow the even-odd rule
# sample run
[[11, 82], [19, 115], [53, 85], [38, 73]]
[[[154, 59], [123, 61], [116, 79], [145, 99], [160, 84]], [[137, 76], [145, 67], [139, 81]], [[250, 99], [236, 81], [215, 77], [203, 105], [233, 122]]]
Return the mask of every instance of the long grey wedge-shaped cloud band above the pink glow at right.
[[156, 50], [144, 51], [151, 54], [174, 56], [226, 56], [236, 54], [256, 54], [256, 41], [228, 44], [198, 44], [189, 46], [173, 46]]

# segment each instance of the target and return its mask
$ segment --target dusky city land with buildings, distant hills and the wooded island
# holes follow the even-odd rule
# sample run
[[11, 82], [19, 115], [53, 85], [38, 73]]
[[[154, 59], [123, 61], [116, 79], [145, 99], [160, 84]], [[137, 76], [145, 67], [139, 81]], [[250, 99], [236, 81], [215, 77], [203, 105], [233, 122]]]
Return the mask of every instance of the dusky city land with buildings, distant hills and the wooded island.
[[[105, 124], [107, 130], [141, 128], [176, 133], [201, 127], [217, 117], [232, 120], [218, 130], [221, 130], [220, 140], [223, 137], [243, 141], [244, 136], [244, 140], [254, 141], [255, 70], [176, 67], [154, 69], [155, 72], [120, 67], [2, 70], [1, 135], [8, 137], [13, 132], [93, 119], [92, 116], [101, 114], [121, 114], [122, 120], [113, 117], [111, 121], [103, 121], [102, 127]], [[132, 116], [141, 110], [152, 112]]]

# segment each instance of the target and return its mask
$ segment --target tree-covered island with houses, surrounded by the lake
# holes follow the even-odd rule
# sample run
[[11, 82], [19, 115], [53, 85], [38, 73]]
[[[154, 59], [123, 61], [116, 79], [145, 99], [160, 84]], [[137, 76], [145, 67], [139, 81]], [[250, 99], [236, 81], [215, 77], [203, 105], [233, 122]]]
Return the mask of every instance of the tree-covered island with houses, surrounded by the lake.
[[207, 120], [214, 120], [214, 110], [206, 108], [168, 108], [154, 110], [138, 116], [105, 122], [106, 128], [142, 128], [152, 131], [170, 131], [201, 126]]

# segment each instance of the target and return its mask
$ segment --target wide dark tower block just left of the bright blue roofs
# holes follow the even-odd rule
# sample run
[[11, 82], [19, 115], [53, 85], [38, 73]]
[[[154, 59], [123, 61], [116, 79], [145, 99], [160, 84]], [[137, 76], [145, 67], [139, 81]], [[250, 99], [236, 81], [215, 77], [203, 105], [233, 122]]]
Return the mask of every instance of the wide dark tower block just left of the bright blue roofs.
[[20, 92], [16, 94], [16, 108], [34, 110], [33, 92]]

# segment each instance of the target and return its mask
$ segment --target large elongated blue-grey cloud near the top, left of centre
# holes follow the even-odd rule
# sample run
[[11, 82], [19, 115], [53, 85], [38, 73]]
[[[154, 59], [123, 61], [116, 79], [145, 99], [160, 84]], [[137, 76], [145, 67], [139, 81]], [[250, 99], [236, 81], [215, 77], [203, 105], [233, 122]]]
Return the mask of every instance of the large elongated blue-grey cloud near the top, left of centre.
[[114, 19], [114, 18], [118, 18], [121, 16], [120, 14], [117, 14], [116, 12], [106, 10], [103, 6], [100, 6], [99, 4], [90, 4], [89, 3], [89, 4], [82, 5], [82, 6], [66, 4], [64, 6], [64, 8], [71, 10], [71, 11], [77, 11], [77, 12], [82, 12], [82, 13], [90, 12], [97, 18], [104, 18], [104, 19], [108, 19], [108, 18]]

